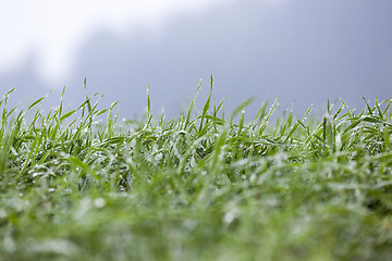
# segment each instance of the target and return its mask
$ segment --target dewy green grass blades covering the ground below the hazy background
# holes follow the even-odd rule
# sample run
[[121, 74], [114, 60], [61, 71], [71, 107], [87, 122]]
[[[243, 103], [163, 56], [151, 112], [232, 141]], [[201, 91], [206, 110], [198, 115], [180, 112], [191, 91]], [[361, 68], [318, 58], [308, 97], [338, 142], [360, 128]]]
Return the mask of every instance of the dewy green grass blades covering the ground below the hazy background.
[[148, 97], [132, 122], [9, 95], [0, 260], [392, 260], [392, 100], [244, 121], [248, 102], [168, 120]]

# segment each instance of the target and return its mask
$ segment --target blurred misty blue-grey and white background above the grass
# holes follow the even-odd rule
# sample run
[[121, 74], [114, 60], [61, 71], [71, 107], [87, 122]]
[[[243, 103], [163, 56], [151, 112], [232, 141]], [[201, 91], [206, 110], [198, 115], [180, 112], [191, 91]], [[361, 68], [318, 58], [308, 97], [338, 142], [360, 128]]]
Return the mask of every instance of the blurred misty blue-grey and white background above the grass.
[[0, 96], [13, 104], [53, 90], [44, 109], [88, 92], [124, 117], [180, 113], [203, 79], [232, 112], [279, 97], [297, 115], [342, 98], [363, 109], [392, 98], [390, 0], [1, 0]]

